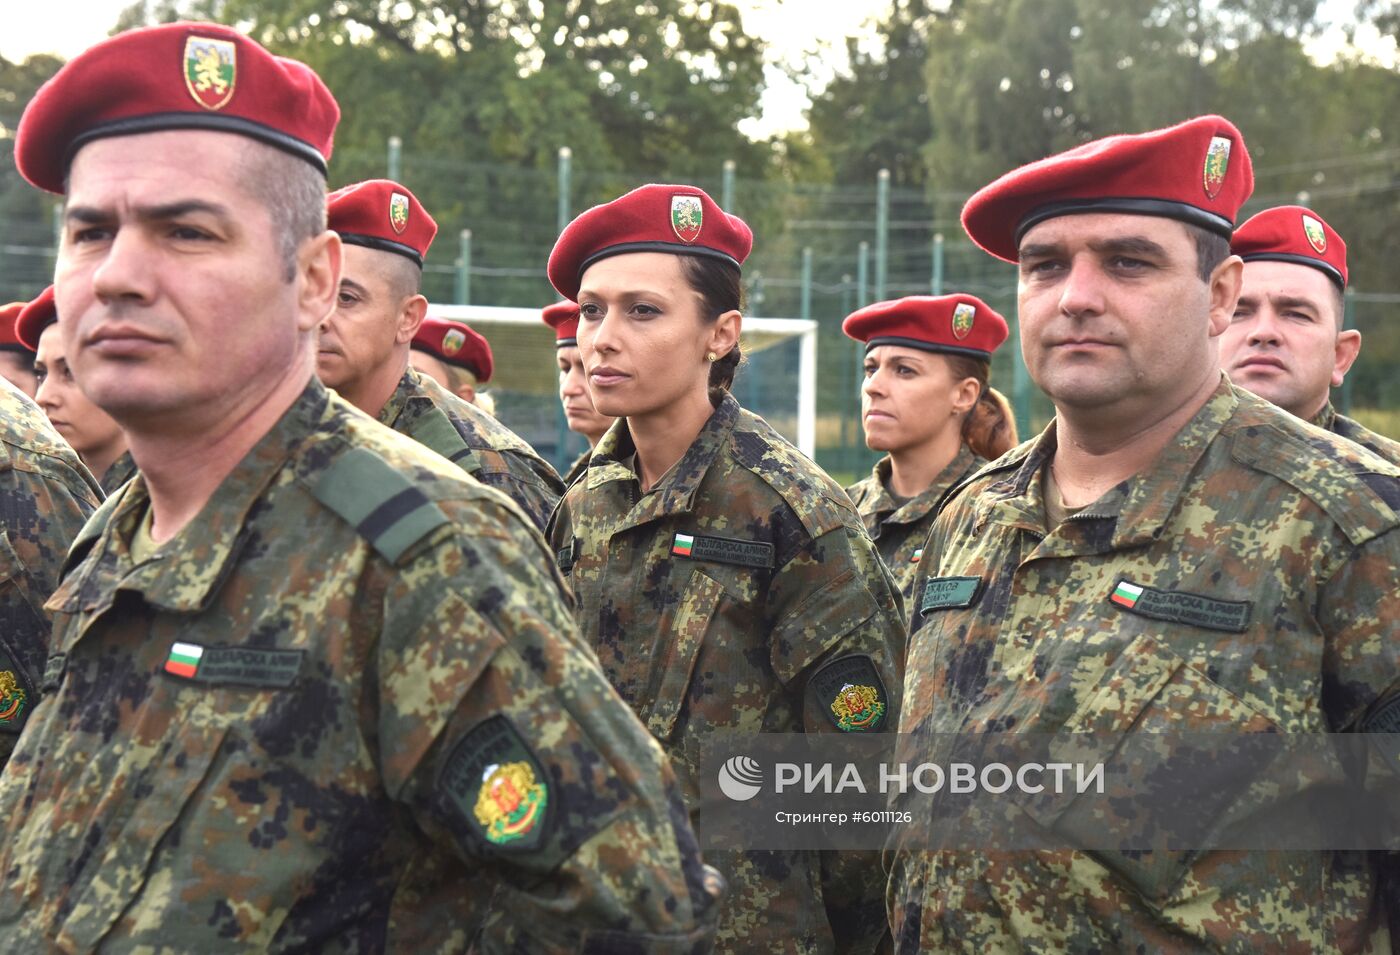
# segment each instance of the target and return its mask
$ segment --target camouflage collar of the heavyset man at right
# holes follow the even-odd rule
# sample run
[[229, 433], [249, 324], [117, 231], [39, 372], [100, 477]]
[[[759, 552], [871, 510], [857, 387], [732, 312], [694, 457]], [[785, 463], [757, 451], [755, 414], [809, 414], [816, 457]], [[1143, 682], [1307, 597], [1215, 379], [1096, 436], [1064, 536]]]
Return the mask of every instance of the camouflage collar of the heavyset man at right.
[[[1151, 466], [1106, 492], [1072, 520], [1114, 521], [1112, 539], [1095, 535], [1109, 549], [1152, 541], [1176, 510], [1197, 462], [1238, 406], [1235, 386], [1221, 375], [1211, 398], [1172, 437]], [[1051, 420], [1037, 438], [998, 461], [991, 473], [1004, 472], [1004, 476], [988, 485], [980, 496], [976, 518], [979, 528], [988, 521], [998, 521], [1044, 534], [1040, 472], [1056, 447], [1056, 421]]]

